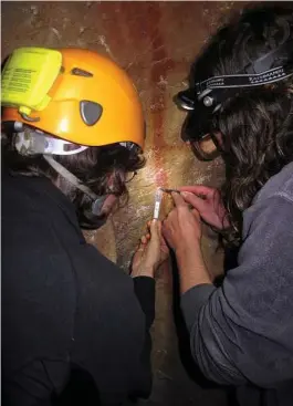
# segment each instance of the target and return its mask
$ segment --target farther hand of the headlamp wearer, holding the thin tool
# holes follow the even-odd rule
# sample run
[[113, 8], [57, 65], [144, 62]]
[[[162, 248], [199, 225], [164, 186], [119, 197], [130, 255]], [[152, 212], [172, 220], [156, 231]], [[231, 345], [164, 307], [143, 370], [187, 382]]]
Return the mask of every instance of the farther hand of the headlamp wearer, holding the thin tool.
[[218, 189], [196, 185], [184, 186], [178, 188], [178, 190], [181, 191], [180, 195], [184, 197], [185, 201], [197, 209], [202, 220], [208, 225], [218, 230], [224, 230], [230, 227], [227, 211]]

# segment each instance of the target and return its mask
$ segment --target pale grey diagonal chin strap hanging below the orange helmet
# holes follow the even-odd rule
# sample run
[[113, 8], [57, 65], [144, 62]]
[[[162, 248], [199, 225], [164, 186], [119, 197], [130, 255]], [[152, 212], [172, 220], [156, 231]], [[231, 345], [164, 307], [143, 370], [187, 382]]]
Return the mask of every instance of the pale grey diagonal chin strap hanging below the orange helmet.
[[63, 165], [57, 163], [52, 155], [43, 154], [43, 157], [48, 162], [48, 164], [53, 169], [55, 169], [56, 173], [59, 173], [63, 178], [65, 178], [69, 183], [83, 191], [85, 195], [91, 197], [91, 199], [93, 200], [92, 212], [95, 216], [100, 216], [101, 209], [107, 196], [97, 196], [96, 194], [94, 194], [87, 186], [83, 185], [75, 175], [69, 171]]

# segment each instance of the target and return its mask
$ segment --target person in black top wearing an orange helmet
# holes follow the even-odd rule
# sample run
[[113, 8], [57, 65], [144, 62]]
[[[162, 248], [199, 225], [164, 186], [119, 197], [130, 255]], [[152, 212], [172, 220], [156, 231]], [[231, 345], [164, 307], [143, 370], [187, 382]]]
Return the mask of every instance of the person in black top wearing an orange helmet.
[[22, 48], [2, 72], [2, 399], [118, 405], [149, 395], [150, 226], [132, 277], [87, 244], [144, 166], [126, 73], [98, 53]]

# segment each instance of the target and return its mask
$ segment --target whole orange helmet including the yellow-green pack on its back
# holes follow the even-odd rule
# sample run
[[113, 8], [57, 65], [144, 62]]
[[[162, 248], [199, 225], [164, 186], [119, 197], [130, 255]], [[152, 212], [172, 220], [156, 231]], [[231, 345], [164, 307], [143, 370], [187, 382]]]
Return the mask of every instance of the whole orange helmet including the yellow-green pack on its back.
[[108, 58], [83, 49], [22, 48], [2, 75], [2, 122], [84, 146], [134, 143], [145, 123], [135, 86]]

